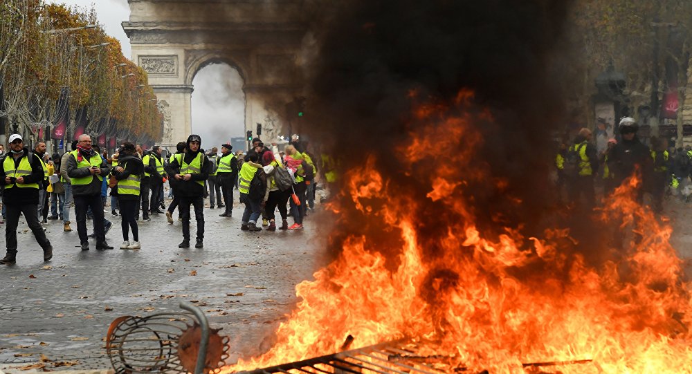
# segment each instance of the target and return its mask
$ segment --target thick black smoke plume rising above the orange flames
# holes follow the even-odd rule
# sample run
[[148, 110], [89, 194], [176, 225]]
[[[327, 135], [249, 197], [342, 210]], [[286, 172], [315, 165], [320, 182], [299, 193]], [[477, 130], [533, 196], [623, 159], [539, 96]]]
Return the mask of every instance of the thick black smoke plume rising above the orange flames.
[[[568, 3], [313, 3], [318, 12], [311, 18], [319, 21], [311, 26], [316, 57], [305, 69], [313, 124], [308, 133], [329, 144], [327, 151], [340, 158], [343, 169], [363, 165], [365, 156], [374, 154], [377, 169], [401, 185], [402, 194], [422, 198], [430, 185], [404, 175], [409, 161], [395, 151], [415, 127], [412, 106], [450, 102], [462, 88], [470, 89], [475, 102], [494, 117], [477, 123], [483, 145], [474, 162], [508, 182], [502, 189], [492, 180], [468, 186], [477, 225], [537, 231], [549, 201], [552, 129], [561, 124], [563, 112], [556, 90], [561, 75], [554, 74], [553, 64], [564, 47]], [[463, 139], [458, 146], [439, 153], [461, 151]], [[435, 167], [432, 160], [416, 165], [421, 173]], [[430, 209], [420, 212], [419, 230], [444, 235], [445, 220], [453, 219], [442, 213], [444, 204], [430, 201]], [[367, 230], [361, 222], [343, 225], [349, 234]]]

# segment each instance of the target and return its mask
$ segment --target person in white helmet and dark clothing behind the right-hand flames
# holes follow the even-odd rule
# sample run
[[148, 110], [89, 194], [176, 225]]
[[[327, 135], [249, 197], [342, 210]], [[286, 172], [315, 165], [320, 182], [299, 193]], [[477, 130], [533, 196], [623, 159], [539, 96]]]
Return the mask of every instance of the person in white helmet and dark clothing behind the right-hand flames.
[[[635, 173], [647, 180], [653, 171], [649, 148], [637, 138], [638, 130], [639, 125], [634, 118], [625, 117], [620, 120], [618, 131], [621, 140], [608, 153], [608, 169], [613, 173], [616, 186]], [[638, 196], [641, 200], [641, 189]]]

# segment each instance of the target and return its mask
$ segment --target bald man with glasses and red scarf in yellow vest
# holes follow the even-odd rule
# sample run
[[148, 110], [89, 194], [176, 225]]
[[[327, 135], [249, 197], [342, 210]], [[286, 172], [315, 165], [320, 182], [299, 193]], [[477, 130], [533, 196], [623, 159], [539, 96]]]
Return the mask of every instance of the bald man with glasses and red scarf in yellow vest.
[[89, 250], [89, 236], [86, 234], [86, 210], [91, 207], [93, 231], [97, 250], [112, 250], [106, 241], [104, 228], [103, 200], [101, 188], [103, 178], [108, 176], [110, 167], [103, 162], [101, 155], [91, 149], [91, 136], [80, 135], [77, 149], [70, 152], [67, 159], [67, 175], [72, 179], [72, 195], [75, 199], [77, 232], [83, 251]]

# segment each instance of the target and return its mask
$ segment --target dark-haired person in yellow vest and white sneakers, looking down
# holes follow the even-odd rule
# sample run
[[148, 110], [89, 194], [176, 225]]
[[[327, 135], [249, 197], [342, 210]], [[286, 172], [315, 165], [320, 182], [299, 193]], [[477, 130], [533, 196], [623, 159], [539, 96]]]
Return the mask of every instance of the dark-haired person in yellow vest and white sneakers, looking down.
[[[142, 159], [136, 154], [134, 144], [125, 142], [118, 149], [118, 166], [112, 174], [118, 180], [113, 194], [118, 196], [122, 227], [121, 250], [138, 250], [142, 247], [139, 242], [139, 229], [135, 215], [139, 210], [140, 181], [144, 174]], [[132, 230], [132, 241], [129, 241], [129, 230]]]

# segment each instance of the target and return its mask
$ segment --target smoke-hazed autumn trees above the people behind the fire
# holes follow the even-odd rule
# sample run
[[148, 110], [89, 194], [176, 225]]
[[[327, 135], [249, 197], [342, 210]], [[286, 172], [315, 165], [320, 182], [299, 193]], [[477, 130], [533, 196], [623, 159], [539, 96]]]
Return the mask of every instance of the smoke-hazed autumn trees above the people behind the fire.
[[[594, 80], [612, 65], [624, 75], [621, 97], [630, 115], [638, 117], [648, 109], [657, 119], [666, 94], [677, 93], [677, 118], [667, 123], [677, 124], [678, 133], [682, 124], [692, 123], [692, 1], [575, 0], [567, 21], [572, 69], [565, 80], [585, 118], [593, 120], [589, 100], [596, 93]], [[686, 100], [691, 103], [684, 105]]]

